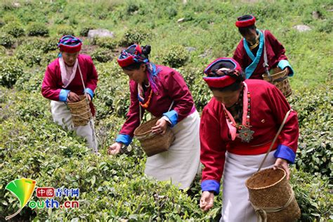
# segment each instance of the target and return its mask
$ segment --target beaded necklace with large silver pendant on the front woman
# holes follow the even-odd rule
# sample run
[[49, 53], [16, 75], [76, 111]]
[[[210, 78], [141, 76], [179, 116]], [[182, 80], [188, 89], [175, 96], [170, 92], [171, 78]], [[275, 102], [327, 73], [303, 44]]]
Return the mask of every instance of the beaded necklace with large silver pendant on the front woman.
[[245, 119], [245, 124], [237, 124], [235, 122], [235, 119], [232, 118], [232, 116], [230, 117], [230, 112], [228, 113], [226, 108], [223, 108], [224, 111], [224, 115], [226, 116], [226, 119], [228, 122], [230, 122], [230, 124], [232, 126], [234, 126], [237, 131], [237, 137], [240, 138], [242, 140], [242, 142], [247, 142], [249, 143], [249, 141], [252, 140], [253, 138], [253, 133], [254, 131], [252, 131], [250, 128], [251, 126], [249, 125], [249, 121], [250, 121], [250, 114], [251, 114], [251, 94], [249, 92], [247, 92], [247, 117]]

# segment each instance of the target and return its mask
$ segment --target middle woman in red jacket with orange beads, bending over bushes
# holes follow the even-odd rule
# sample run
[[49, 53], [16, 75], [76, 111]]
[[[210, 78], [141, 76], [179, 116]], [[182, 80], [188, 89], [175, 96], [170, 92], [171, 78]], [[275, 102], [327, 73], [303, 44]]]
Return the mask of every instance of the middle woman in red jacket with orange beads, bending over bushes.
[[129, 46], [118, 63], [129, 76], [131, 105], [116, 143], [108, 152], [115, 155], [122, 145], [129, 145], [140, 125], [140, 110], [161, 117], [153, 133], [171, 127], [176, 137], [168, 151], [147, 158], [145, 174], [159, 181], [172, 181], [179, 188], [190, 186], [200, 169], [200, 117], [181, 74], [169, 67], [150, 63], [150, 46]]

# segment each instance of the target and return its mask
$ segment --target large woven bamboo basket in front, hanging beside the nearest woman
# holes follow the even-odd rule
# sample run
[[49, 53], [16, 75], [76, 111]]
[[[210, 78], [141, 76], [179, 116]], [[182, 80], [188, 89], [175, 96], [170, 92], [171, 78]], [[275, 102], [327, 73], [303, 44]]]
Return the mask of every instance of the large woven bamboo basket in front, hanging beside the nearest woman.
[[301, 210], [283, 169], [263, 169], [245, 182], [249, 200], [262, 221], [296, 221]]

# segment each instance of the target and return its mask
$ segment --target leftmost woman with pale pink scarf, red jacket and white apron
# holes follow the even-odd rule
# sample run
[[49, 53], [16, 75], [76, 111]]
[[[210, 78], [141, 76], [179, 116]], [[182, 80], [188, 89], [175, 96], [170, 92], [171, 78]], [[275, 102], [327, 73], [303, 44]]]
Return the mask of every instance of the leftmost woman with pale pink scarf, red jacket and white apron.
[[[59, 57], [53, 60], [46, 68], [41, 94], [51, 100], [53, 121], [64, 128], [77, 132], [77, 135], [86, 138], [89, 148], [97, 152], [97, 141], [93, 133], [93, 122], [86, 126], [72, 126], [72, 115], [68, 110], [67, 102], [78, 102], [79, 95], [88, 94], [91, 113], [95, 115], [92, 99], [97, 86], [98, 75], [89, 55], [79, 54], [81, 40], [66, 35], [58, 42]], [[84, 86], [82, 84], [81, 75]]]

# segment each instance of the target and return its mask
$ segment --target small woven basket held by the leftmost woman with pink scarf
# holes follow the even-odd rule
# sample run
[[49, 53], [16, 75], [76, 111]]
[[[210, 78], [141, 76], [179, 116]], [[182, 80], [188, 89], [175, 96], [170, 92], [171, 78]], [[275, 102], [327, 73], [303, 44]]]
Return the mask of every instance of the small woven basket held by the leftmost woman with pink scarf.
[[67, 103], [67, 106], [70, 108], [74, 126], [86, 126], [91, 119], [91, 110], [86, 96], [79, 95], [79, 98], [79, 102]]

